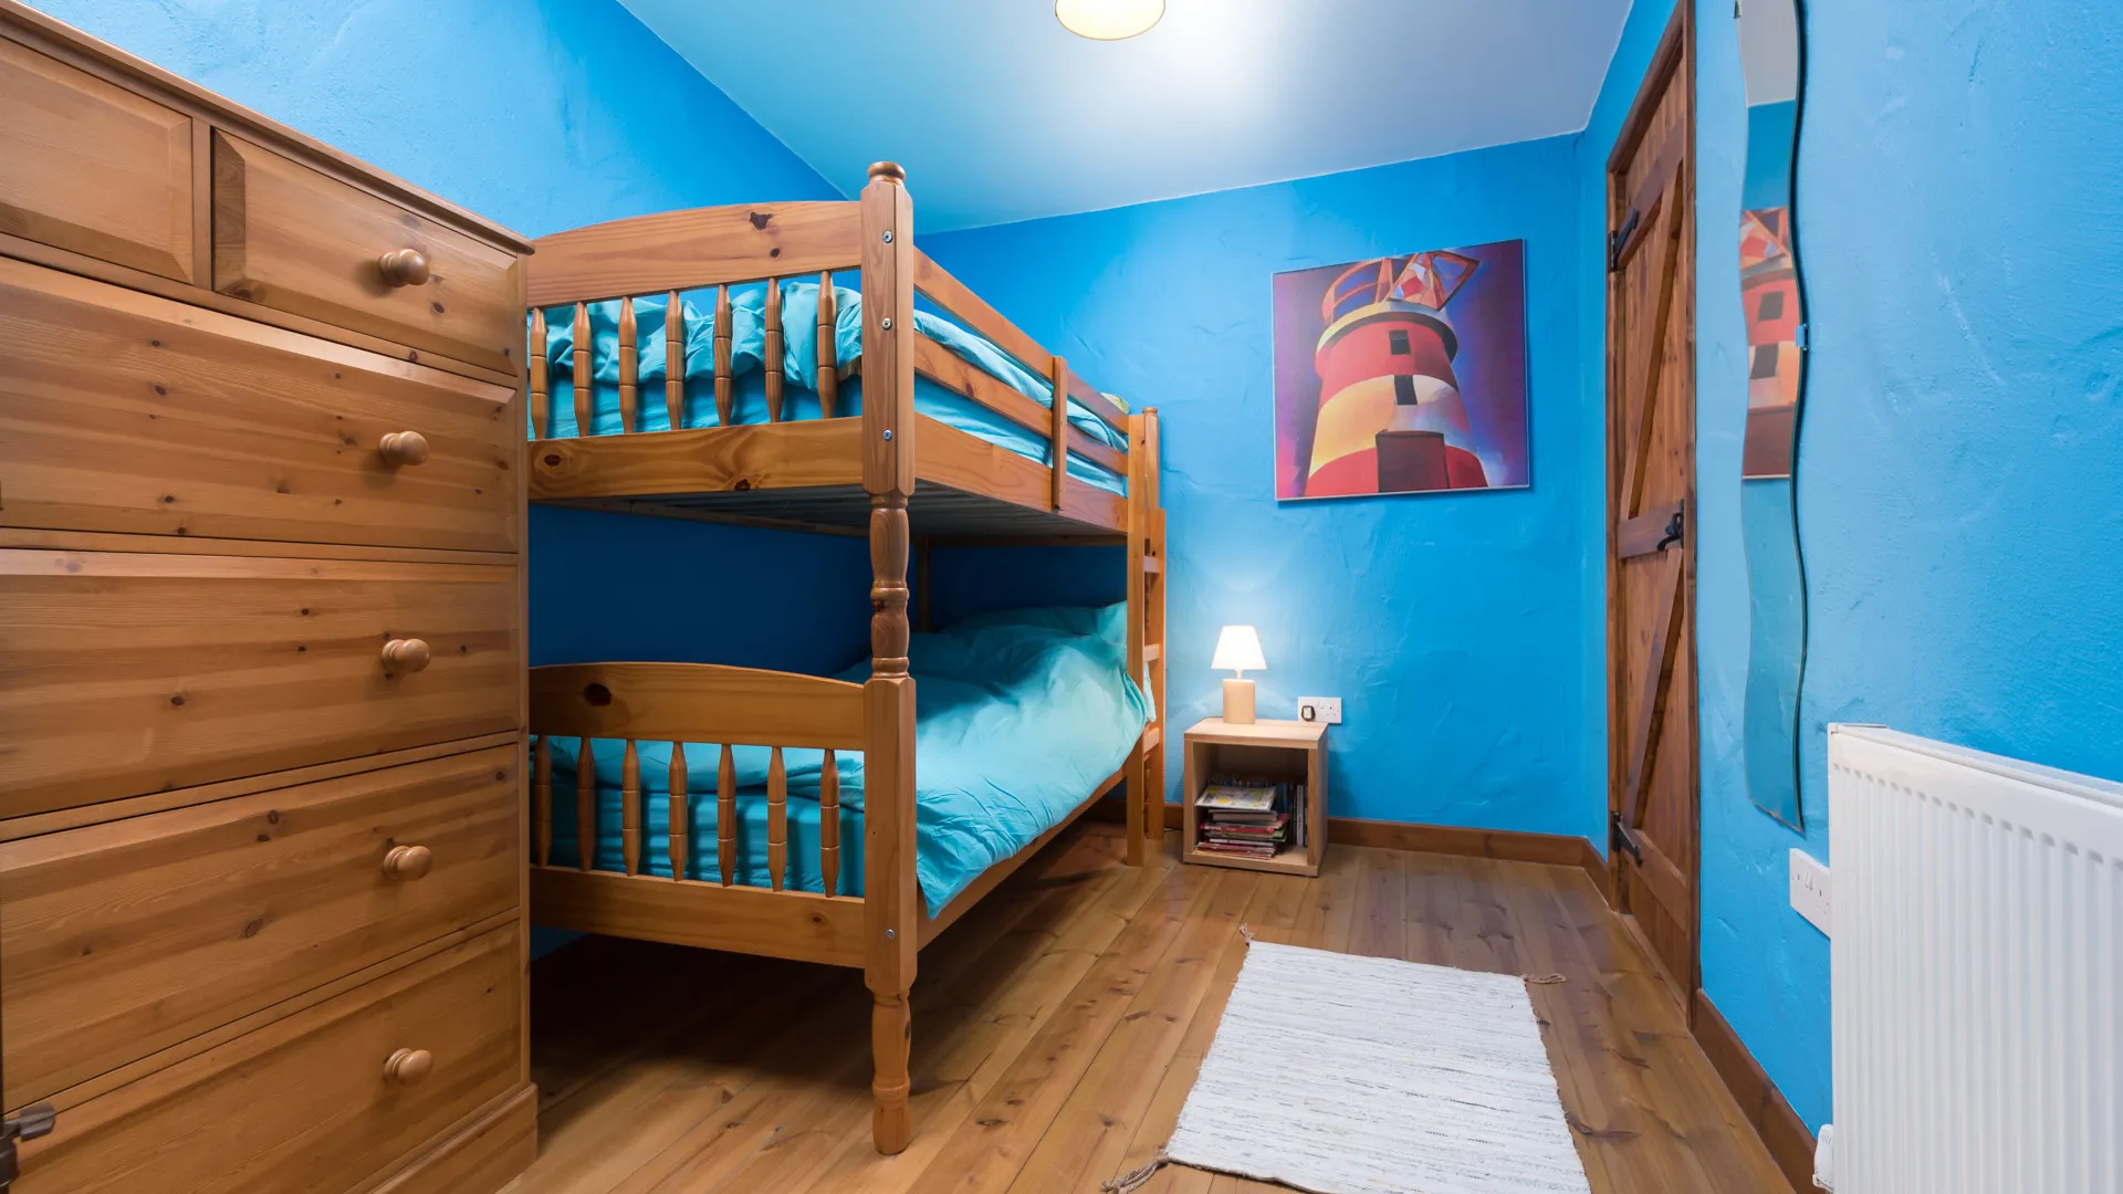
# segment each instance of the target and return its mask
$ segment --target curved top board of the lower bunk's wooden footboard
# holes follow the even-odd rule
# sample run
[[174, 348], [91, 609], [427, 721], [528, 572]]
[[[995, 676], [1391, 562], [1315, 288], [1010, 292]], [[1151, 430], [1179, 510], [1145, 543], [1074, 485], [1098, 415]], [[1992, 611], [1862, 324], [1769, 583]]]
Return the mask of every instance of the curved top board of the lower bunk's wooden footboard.
[[531, 669], [531, 733], [862, 750], [862, 684], [720, 663]]

